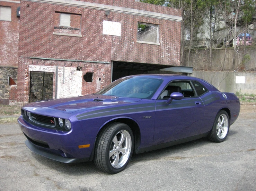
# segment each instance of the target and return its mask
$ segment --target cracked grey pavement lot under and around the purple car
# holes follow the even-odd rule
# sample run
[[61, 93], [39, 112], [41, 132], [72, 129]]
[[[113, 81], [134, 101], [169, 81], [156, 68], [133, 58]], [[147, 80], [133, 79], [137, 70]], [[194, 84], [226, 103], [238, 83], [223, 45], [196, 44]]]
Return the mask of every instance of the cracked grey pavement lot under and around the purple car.
[[256, 106], [241, 105], [223, 143], [199, 139], [133, 155], [110, 175], [30, 151], [17, 124], [0, 125], [0, 190], [256, 190]]

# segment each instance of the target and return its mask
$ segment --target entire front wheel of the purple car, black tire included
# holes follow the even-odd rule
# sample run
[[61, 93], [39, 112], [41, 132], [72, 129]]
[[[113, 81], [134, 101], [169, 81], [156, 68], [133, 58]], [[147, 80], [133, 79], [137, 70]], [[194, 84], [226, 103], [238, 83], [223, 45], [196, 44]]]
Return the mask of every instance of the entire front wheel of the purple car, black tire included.
[[131, 128], [124, 123], [111, 123], [98, 135], [94, 163], [100, 170], [115, 174], [124, 170], [133, 152]]

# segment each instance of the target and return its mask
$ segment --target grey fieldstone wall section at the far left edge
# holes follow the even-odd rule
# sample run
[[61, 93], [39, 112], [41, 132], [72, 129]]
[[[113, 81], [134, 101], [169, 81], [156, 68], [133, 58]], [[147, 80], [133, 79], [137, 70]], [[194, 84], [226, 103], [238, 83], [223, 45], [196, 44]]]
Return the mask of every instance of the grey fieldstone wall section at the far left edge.
[[9, 99], [11, 86], [9, 86], [8, 79], [11, 77], [17, 83], [17, 73], [16, 67], [0, 66], [0, 98]]

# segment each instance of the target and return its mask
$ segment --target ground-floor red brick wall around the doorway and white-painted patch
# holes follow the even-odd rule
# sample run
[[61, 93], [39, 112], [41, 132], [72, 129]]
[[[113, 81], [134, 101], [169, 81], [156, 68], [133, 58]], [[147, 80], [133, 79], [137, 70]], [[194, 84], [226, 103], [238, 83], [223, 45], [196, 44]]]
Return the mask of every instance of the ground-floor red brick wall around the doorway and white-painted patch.
[[[17, 100], [19, 102], [28, 102], [29, 99], [29, 83], [30, 83], [30, 71], [29, 65], [44, 66], [45, 72], [48, 72], [47, 67], [50, 66], [59, 66], [59, 67], [73, 67], [77, 66], [82, 67], [82, 78], [86, 72], [94, 72], [93, 81], [86, 82], [82, 79], [82, 95], [95, 93], [104, 86], [108, 85], [111, 80], [111, 65], [103, 63], [89, 63], [89, 62], [67, 62], [67, 61], [48, 61], [40, 59], [29, 59], [29, 58], [20, 58], [19, 59], [21, 66], [18, 68], [18, 89], [17, 91]], [[53, 97], [55, 96], [55, 77], [53, 75]], [[67, 77], [66, 77], [67, 78]], [[99, 81], [99, 78], [101, 79]], [[62, 79], [59, 79], [62, 80]], [[70, 79], [72, 80], [72, 79]], [[76, 82], [73, 82], [73, 85], [76, 86]], [[66, 91], [66, 90], [63, 90]], [[67, 90], [68, 91], [68, 90]]]

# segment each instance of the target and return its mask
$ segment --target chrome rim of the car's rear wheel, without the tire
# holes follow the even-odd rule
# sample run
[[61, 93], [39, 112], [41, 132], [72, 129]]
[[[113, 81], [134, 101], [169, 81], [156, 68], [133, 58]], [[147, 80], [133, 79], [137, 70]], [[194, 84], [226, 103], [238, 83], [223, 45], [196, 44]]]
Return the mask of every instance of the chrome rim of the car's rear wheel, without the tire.
[[221, 114], [218, 118], [217, 125], [216, 125], [216, 132], [217, 136], [220, 139], [223, 139], [226, 137], [228, 133], [228, 127], [229, 127], [229, 120], [227, 115]]

